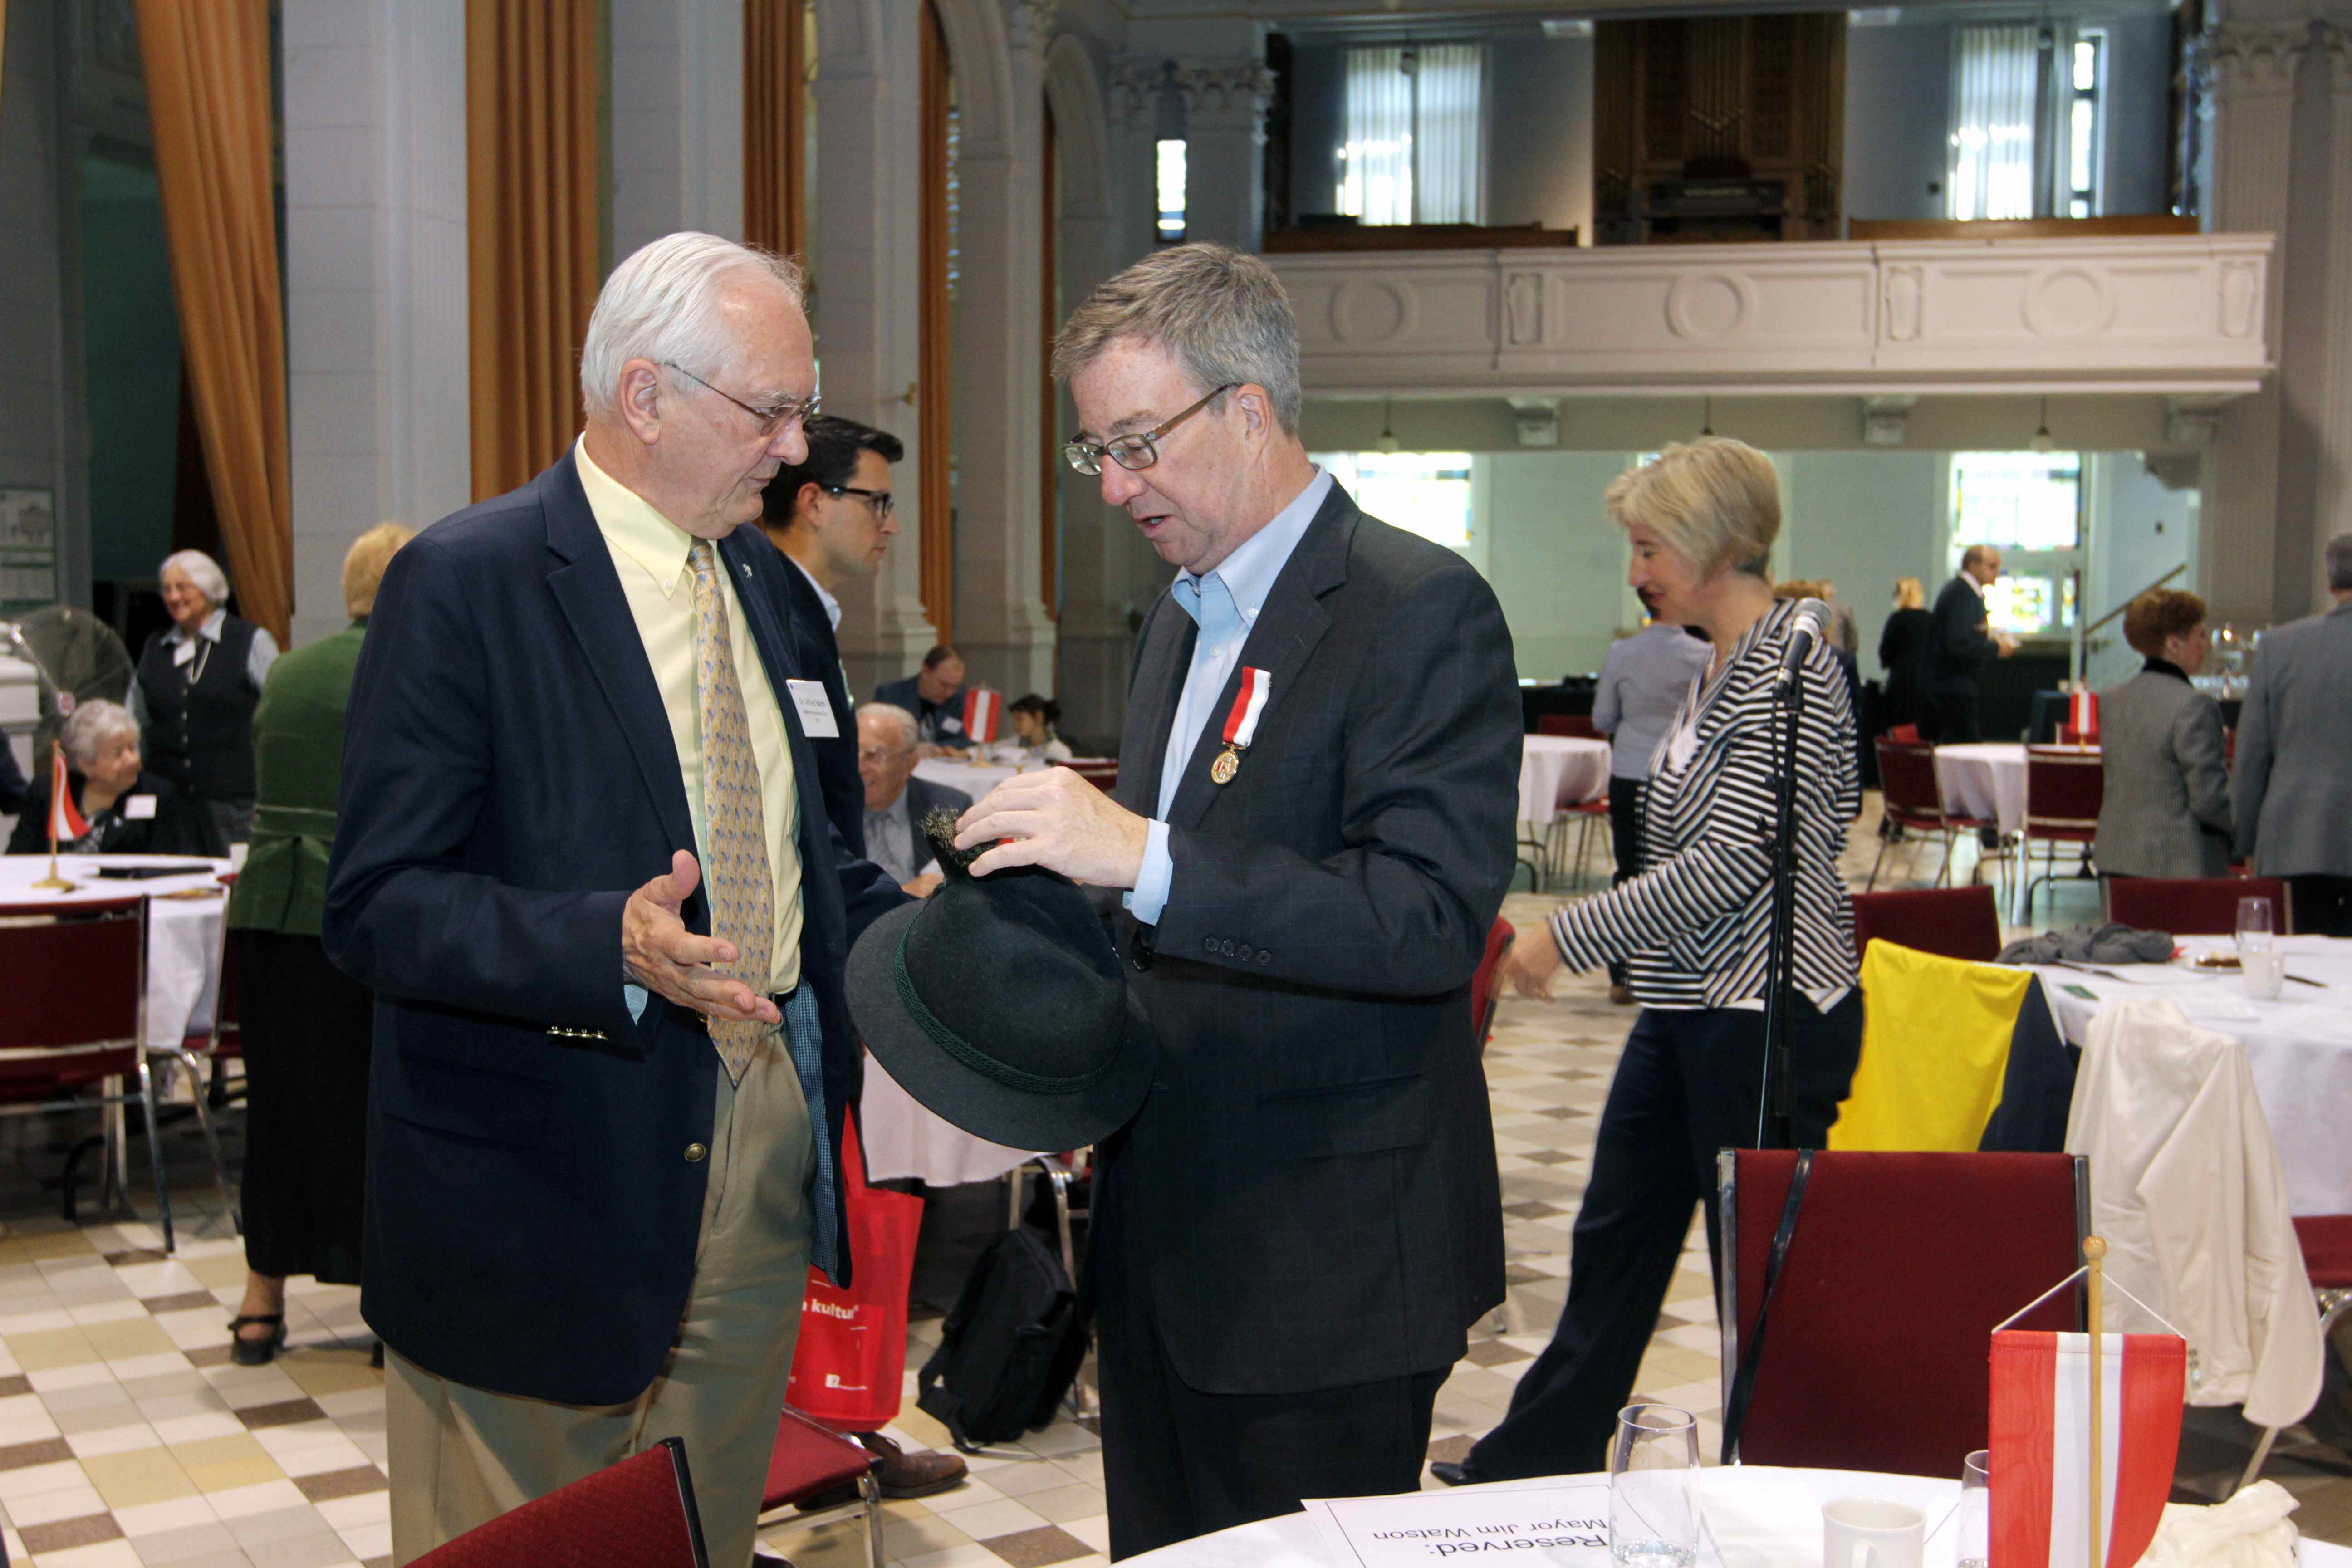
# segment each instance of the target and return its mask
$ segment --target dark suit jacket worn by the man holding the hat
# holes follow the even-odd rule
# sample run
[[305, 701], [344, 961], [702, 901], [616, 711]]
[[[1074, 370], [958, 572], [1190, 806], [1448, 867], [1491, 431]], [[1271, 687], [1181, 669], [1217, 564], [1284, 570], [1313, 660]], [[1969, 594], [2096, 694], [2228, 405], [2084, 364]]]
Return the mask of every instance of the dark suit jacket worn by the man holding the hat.
[[[1115, 790], [1143, 816], [1195, 632], [1169, 595], [1143, 621]], [[1256, 743], [1211, 783], [1235, 668], [1188, 741], [1160, 924], [1115, 922], [1160, 1063], [1098, 1246], [1195, 1389], [1451, 1366], [1503, 1298], [1468, 987], [1515, 856], [1510, 630], [1458, 555], [1334, 487], [1240, 665], [1272, 675]]]

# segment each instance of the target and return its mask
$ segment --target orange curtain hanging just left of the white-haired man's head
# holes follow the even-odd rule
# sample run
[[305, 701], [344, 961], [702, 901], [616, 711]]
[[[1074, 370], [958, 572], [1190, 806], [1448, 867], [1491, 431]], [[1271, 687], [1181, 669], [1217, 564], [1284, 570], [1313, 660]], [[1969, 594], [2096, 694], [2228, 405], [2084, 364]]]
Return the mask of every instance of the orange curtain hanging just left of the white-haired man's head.
[[581, 430], [602, 268], [595, 0], [466, 0], [473, 494], [515, 489]]

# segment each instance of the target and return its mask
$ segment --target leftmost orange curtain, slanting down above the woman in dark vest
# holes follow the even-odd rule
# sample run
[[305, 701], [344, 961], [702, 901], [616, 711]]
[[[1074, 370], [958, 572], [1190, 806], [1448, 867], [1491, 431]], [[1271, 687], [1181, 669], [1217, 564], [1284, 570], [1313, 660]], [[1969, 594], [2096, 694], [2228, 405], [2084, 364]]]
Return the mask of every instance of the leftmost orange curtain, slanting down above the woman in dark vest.
[[162, 228], [238, 609], [287, 646], [294, 512], [268, 0], [139, 0]]

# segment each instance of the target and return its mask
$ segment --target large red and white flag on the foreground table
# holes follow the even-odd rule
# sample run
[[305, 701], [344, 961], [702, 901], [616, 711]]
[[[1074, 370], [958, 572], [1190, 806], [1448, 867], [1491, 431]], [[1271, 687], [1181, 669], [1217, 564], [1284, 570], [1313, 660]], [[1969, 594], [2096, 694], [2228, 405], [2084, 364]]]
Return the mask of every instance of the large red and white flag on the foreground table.
[[[2187, 1342], [2100, 1335], [2098, 1568], [2133, 1568], [2164, 1519]], [[1992, 1563], [2091, 1568], [2091, 1335], [1992, 1335]]]

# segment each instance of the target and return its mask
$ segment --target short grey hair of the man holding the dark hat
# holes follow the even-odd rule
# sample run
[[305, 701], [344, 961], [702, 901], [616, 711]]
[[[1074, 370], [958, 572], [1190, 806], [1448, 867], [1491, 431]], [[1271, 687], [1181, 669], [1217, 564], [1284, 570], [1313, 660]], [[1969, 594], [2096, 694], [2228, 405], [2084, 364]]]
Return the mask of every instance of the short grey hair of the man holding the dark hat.
[[1275, 423], [1298, 433], [1298, 317], [1275, 270], [1223, 244], [1174, 244], [1098, 284], [1054, 334], [1054, 378], [1070, 381], [1120, 339], [1174, 355], [1207, 393], [1254, 381]]

